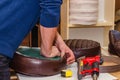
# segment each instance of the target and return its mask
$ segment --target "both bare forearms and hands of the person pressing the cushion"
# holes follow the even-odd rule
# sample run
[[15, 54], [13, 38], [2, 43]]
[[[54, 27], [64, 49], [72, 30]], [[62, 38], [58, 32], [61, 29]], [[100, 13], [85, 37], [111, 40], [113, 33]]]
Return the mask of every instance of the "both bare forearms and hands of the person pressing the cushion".
[[[67, 56], [67, 64], [75, 61], [71, 49], [64, 43], [62, 37], [57, 32], [57, 28], [46, 28], [40, 25], [41, 32], [41, 54], [45, 57]], [[55, 42], [55, 46], [53, 43]], [[60, 54], [61, 53], [61, 54]]]

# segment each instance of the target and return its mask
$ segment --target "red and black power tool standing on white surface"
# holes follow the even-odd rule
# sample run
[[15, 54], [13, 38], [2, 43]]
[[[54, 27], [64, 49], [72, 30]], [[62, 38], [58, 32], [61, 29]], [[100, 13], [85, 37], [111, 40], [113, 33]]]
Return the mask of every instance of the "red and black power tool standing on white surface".
[[82, 77], [86, 75], [91, 75], [93, 80], [97, 80], [100, 64], [102, 64], [100, 56], [80, 58], [78, 60], [78, 80], [82, 80]]

